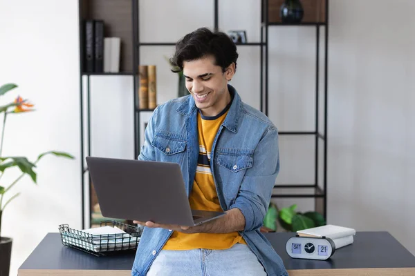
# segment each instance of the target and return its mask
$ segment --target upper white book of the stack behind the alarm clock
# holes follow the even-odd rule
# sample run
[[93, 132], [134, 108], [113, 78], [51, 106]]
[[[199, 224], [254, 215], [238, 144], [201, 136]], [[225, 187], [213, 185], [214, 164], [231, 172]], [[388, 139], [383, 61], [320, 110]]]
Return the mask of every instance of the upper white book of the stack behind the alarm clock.
[[299, 237], [329, 237], [330, 239], [338, 239], [355, 234], [356, 230], [352, 228], [331, 224], [297, 231]]

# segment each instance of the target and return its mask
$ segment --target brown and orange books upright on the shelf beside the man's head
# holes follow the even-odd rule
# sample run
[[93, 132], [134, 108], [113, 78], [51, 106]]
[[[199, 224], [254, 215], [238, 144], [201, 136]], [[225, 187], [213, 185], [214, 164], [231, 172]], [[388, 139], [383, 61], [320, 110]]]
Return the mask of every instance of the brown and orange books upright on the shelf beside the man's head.
[[138, 86], [138, 108], [154, 109], [157, 107], [157, 86], [156, 86], [156, 66], [140, 65], [138, 66], [138, 77], [140, 84]]

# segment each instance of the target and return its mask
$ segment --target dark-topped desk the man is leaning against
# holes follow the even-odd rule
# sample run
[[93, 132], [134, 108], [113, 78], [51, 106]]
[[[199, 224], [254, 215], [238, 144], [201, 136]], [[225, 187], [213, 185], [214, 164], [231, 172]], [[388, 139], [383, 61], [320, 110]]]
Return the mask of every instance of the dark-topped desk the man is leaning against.
[[[415, 275], [415, 257], [387, 232], [358, 232], [354, 243], [326, 261], [292, 259], [285, 251], [293, 233], [266, 233], [290, 276]], [[48, 233], [19, 268], [19, 276], [130, 276], [134, 254], [95, 257], [62, 245]]]

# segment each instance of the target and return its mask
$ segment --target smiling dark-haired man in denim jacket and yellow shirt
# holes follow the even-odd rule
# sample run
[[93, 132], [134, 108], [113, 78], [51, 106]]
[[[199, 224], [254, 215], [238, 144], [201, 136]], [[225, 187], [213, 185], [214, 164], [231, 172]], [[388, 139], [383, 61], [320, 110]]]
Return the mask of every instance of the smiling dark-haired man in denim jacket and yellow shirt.
[[176, 45], [172, 64], [191, 95], [164, 103], [145, 131], [140, 160], [181, 165], [192, 209], [225, 211], [199, 226], [145, 225], [132, 275], [288, 275], [261, 235], [279, 172], [277, 128], [228, 85], [237, 47], [200, 28]]

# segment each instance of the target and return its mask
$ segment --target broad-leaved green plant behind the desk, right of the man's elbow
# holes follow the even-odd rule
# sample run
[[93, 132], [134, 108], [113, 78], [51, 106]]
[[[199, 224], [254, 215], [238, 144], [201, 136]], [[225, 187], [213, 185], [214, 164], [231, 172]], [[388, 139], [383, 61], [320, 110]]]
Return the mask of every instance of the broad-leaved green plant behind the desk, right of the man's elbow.
[[277, 230], [277, 222], [288, 232], [297, 232], [308, 228], [326, 225], [326, 220], [318, 212], [297, 212], [297, 204], [279, 210], [276, 204], [270, 203], [264, 218], [264, 226]]

